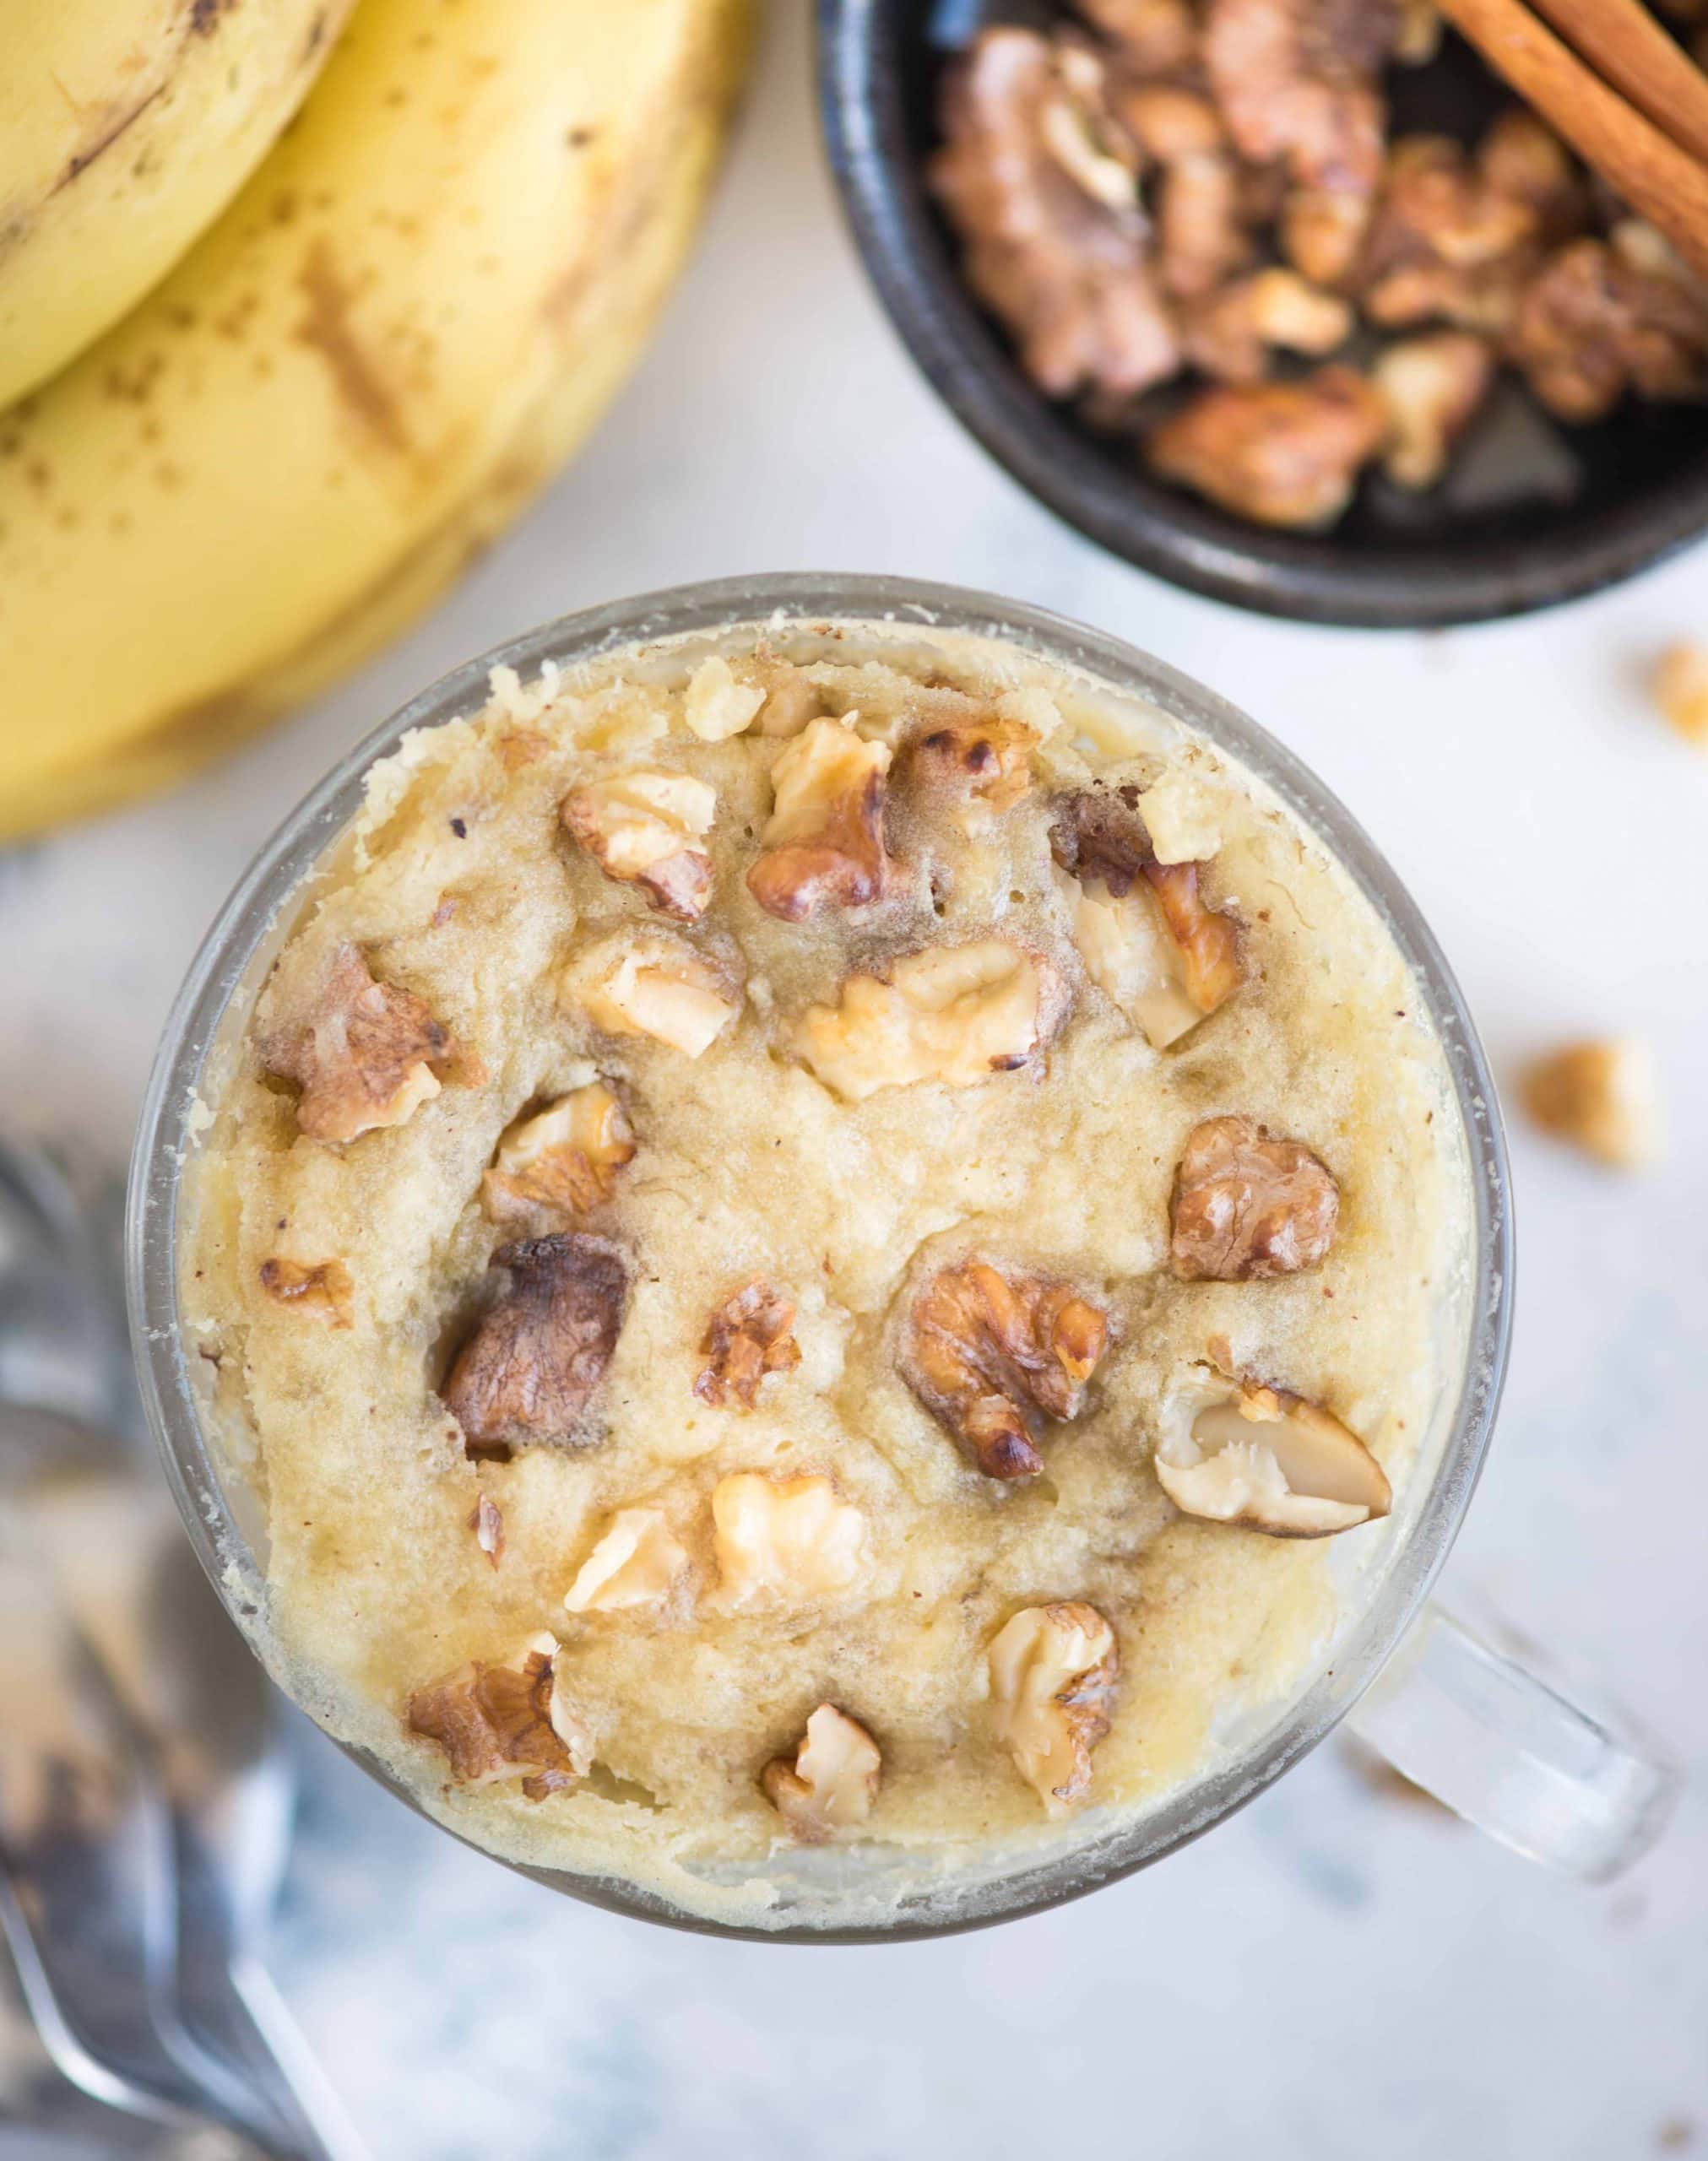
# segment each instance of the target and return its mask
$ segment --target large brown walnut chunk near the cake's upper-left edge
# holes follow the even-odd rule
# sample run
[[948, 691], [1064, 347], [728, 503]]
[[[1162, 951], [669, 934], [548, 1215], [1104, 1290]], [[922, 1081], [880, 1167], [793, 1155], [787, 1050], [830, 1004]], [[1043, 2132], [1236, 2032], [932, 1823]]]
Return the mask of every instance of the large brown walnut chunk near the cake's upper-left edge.
[[378, 983], [355, 944], [339, 944], [303, 1020], [262, 1039], [262, 1065], [294, 1080], [296, 1126], [311, 1141], [355, 1141], [402, 1126], [469, 1059], [413, 990]]

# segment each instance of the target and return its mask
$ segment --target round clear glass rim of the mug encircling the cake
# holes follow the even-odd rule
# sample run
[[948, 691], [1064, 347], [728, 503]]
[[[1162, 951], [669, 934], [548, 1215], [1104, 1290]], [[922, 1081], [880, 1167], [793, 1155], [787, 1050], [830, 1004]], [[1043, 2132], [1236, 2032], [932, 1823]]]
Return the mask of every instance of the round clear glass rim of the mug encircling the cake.
[[[430, 728], [478, 711], [489, 698], [493, 668], [515, 668], [530, 681], [545, 661], [577, 666], [612, 650], [692, 633], [783, 622], [802, 629], [817, 622], [880, 622], [897, 631], [917, 627], [992, 637], [1046, 666], [1087, 674], [1118, 694], [1159, 707], [1226, 748], [1343, 864], [1399, 947], [1425, 994], [1449, 1068], [1470, 1182], [1468, 1342], [1433, 1478], [1375, 1593], [1336, 1629], [1332, 1662], [1315, 1670], [1276, 1724], [1243, 1753], [1213, 1761], [1163, 1800], [1113, 1824], [1107, 1837], [1066, 1852], [1018, 1850], [1012, 1871], [992, 1874], [940, 1915], [930, 1912], [928, 1893], [919, 1910], [908, 1902], [897, 1904], [893, 1923], [763, 1928], [720, 1921], [677, 1906], [644, 1884], [515, 1863], [463, 1839], [536, 1882], [633, 1919], [761, 1943], [904, 1943], [988, 1928], [1098, 1891], [1176, 1852], [1273, 1785], [1334, 1731], [1403, 1642], [1446, 1560], [1483, 1467], [1507, 1370], [1513, 1312], [1511, 1178], [1494, 1083], [1459, 985], [1416, 903], [1362, 826], [1284, 743], [1215, 692], [1120, 637], [1053, 609], [921, 579], [841, 573], [729, 577], [612, 601], [512, 637], [450, 670], [346, 752], [290, 810], [221, 908], [173, 1001], [149, 1076], [132, 1154], [125, 1284], [143, 1402], [166, 1480], [210, 1582], [262, 1655], [257, 1636], [264, 1582], [225, 1489], [231, 1472], [223, 1469], [218, 1446], [201, 1415], [192, 1355], [186, 1355], [179, 1325], [182, 1178], [197, 1154], [199, 1087], [233, 998], [257, 955], [294, 916], [305, 880], [357, 815], [368, 769], [393, 752], [411, 728]], [[1449, 1390], [1451, 1385], [1449, 1377]], [[385, 1763], [355, 1744], [337, 1746], [411, 1809], [428, 1815]], [[428, 1822], [448, 1828], [439, 1817], [428, 1815]], [[450, 1837], [461, 1833], [450, 1830]]]

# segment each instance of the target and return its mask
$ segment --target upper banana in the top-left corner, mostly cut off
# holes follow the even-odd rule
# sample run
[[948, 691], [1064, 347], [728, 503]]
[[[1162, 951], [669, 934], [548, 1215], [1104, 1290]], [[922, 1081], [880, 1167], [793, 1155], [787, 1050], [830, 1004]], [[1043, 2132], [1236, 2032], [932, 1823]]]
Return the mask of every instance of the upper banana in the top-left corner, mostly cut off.
[[272, 147], [350, 0], [0, 0], [0, 406], [110, 328]]

